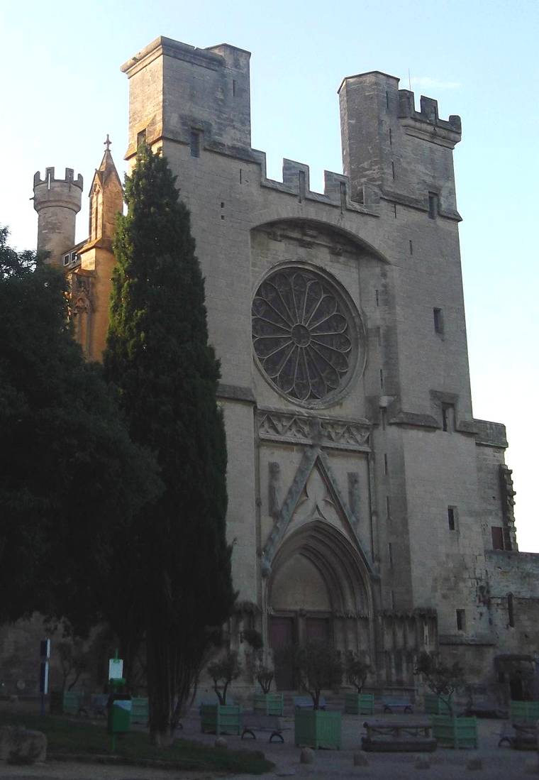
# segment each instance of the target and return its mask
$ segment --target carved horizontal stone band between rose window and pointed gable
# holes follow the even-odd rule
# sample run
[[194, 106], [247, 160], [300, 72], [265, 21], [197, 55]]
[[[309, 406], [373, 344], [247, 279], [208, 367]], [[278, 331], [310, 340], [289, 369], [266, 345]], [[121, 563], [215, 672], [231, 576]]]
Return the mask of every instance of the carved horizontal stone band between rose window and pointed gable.
[[318, 444], [333, 449], [369, 450], [371, 427], [367, 420], [333, 420], [301, 414], [259, 410], [256, 414], [259, 438], [294, 444]]

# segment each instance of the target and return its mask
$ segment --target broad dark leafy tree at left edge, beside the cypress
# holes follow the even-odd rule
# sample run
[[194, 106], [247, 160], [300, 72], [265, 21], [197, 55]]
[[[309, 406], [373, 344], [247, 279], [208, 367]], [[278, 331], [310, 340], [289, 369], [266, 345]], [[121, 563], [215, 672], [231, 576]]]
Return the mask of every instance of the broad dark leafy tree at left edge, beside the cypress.
[[61, 271], [0, 230], [0, 621], [38, 610], [77, 634], [114, 614], [132, 518], [157, 495], [101, 367], [72, 339]]

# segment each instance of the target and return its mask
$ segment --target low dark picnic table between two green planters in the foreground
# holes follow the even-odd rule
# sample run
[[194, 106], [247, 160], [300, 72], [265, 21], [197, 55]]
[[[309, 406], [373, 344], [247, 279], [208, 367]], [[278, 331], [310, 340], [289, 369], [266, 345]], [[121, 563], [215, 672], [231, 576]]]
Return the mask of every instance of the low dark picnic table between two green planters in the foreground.
[[361, 737], [363, 750], [372, 753], [407, 753], [421, 750], [432, 753], [437, 742], [429, 720], [368, 720], [363, 724], [367, 734]]

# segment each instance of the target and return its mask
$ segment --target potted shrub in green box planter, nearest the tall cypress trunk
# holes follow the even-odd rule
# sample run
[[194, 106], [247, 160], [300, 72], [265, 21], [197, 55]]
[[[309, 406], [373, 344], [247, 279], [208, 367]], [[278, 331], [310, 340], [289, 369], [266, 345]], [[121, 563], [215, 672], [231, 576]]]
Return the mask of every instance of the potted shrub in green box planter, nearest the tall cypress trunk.
[[241, 706], [227, 704], [227, 690], [232, 680], [241, 674], [238, 653], [227, 651], [207, 666], [213, 679], [213, 690], [218, 704], [200, 705], [200, 727], [203, 732], [213, 734], [241, 734]]

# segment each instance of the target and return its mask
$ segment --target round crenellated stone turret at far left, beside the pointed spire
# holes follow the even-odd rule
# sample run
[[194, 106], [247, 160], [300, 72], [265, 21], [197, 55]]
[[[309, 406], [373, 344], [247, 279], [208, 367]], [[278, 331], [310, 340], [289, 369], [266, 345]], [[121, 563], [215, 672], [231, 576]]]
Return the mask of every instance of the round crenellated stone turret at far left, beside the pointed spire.
[[83, 177], [75, 179], [65, 168], [65, 179], [55, 179], [55, 169], [45, 168], [33, 177], [33, 207], [37, 211], [37, 250], [47, 250], [48, 263], [62, 264], [62, 255], [75, 244], [75, 220], [83, 196]]

